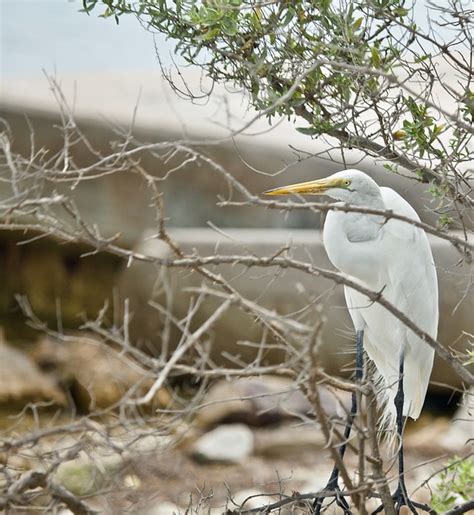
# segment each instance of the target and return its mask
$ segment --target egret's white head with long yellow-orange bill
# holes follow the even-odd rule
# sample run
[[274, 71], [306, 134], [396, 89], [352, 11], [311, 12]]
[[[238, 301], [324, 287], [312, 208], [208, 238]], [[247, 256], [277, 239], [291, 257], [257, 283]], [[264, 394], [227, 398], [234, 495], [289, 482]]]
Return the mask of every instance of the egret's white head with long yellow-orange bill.
[[290, 184], [265, 191], [264, 195], [327, 195], [350, 204], [372, 204], [380, 198], [377, 183], [359, 170], [344, 170], [324, 179]]

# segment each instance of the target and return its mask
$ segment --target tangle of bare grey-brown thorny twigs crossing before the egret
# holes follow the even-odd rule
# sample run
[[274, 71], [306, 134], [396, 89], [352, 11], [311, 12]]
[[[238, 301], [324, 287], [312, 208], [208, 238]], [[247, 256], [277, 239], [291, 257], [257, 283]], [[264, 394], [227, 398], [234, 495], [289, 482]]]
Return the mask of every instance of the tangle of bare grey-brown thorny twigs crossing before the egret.
[[[318, 62], [317, 64], [326, 64], [334, 67], [339, 66], [339, 63], [334, 62]], [[316, 64], [313, 68], [315, 66]], [[346, 69], [348, 69], [347, 66]], [[303, 72], [300, 79], [305, 79], [311, 71], [313, 71], [312, 68], [309, 68], [308, 72]], [[349, 71], [361, 73], [367, 70], [365, 67], [356, 66], [355, 68], [353, 67], [352, 70], [349, 69]], [[382, 72], [374, 72], [373, 74], [389, 82], [392, 81], [392, 83], [398, 86], [406, 86], [405, 83], [400, 84], [399, 79], [395, 80], [391, 78], [391, 76], [385, 76], [386, 74]], [[290, 99], [293, 93], [297, 92], [299, 85], [299, 82], [295, 83], [293, 88], [290, 87], [286, 93], [283, 93], [282, 96], [276, 100], [275, 105], [268, 108], [268, 113], [273, 112], [274, 109], [280, 107]], [[402, 313], [396, 306], [386, 301], [383, 296], [383, 291], [370, 291], [337, 272], [325, 270], [311, 263], [295, 260], [286, 254], [286, 251], [278, 252], [268, 257], [254, 256], [249, 253], [220, 255], [218, 252], [215, 252], [213, 255], [209, 256], [186, 254], [172, 239], [171, 234], [167, 230], [165, 224], [165, 206], [161, 195], [160, 182], [163, 180], [171, 180], [174, 174], [180, 173], [186, 164], [191, 162], [197, 163], [205, 167], [210, 173], [218, 174], [221, 178], [225, 179], [227, 184], [234, 191], [238, 192], [240, 197], [237, 201], [229, 198], [221, 201], [220, 204], [222, 206], [259, 205], [264, 208], [288, 211], [310, 209], [315, 213], [339, 210], [380, 216], [381, 223], [389, 223], [392, 219], [399, 220], [403, 223], [420, 227], [426, 232], [450, 242], [461, 251], [468, 260], [474, 245], [469, 240], [467, 232], [464, 238], [459, 237], [452, 232], [448, 233], [424, 222], [411, 220], [390, 211], [378, 211], [334, 203], [323, 204], [312, 202], [300, 204], [293, 201], [275, 202], [262, 200], [257, 195], [252, 194], [223, 166], [206, 155], [202, 150], [197, 149], [199, 144], [201, 144], [200, 146], [207, 145], [208, 147], [212, 147], [218, 143], [222, 143], [226, 138], [211, 143], [208, 141], [182, 140], [142, 144], [133, 138], [130, 131], [124, 137], [124, 141], [116, 145], [114, 151], [103, 154], [94, 149], [87, 136], [79, 129], [74, 121], [72, 111], [68, 108], [60, 89], [54, 81], [52, 81], [52, 87], [61, 102], [63, 132], [65, 136], [64, 147], [55, 155], [32, 152], [31, 156], [25, 158], [12, 150], [8, 132], [5, 131], [2, 133], [0, 143], [3, 149], [3, 164], [5, 166], [2, 170], [0, 180], [11, 185], [12, 190], [9, 198], [0, 201], [0, 228], [15, 231], [36, 231], [33, 238], [50, 235], [63, 242], [83, 242], [90, 246], [92, 253], [109, 252], [124, 258], [128, 265], [133, 261], [142, 261], [161, 265], [166, 269], [191, 269], [200, 274], [203, 279], [203, 284], [200, 288], [196, 288], [190, 292], [198, 296], [197, 300], [194, 299], [194, 303], [190, 305], [188, 312], [184, 318], [180, 320], [172, 313], [172, 302], [165, 303], [164, 306], [160, 305], [159, 307], [158, 304], [155, 304], [155, 306], [157, 306], [157, 312], [166, 319], [167, 326], [177, 329], [181, 335], [179, 345], [174, 349], [164, 352], [159, 358], [150, 356], [149, 353], [135, 347], [133, 343], [131, 343], [128, 330], [130, 322], [128, 304], [126, 304], [122, 327], [113, 327], [111, 329], [106, 327], [106, 310], [98, 316], [97, 320], [88, 321], [84, 325], [83, 329], [93, 330], [94, 333], [100, 335], [104, 340], [110, 343], [111, 346], [107, 348], [111, 350], [111, 352], [118, 354], [124, 362], [132, 364], [136, 369], [143, 370], [146, 377], [153, 378], [151, 386], [144, 394], [138, 395], [136, 389], [131, 389], [127, 395], [124, 395], [118, 405], [114, 406], [120, 410], [120, 415], [115, 423], [109, 423], [107, 427], [102, 428], [100, 424], [94, 422], [94, 418], [110, 415], [112, 409], [104, 411], [96, 410], [89, 417], [78, 422], [59, 427], [36, 428], [36, 430], [32, 431], [29, 435], [4, 440], [1, 446], [2, 452], [6, 454], [19, 453], [22, 449], [31, 448], [31, 446], [41, 441], [58, 436], [78, 435], [79, 437], [85, 437], [91, 434], [95, 434], [96, 437], [103, 442], [104, 447], [114, 449], [116, 452], [121, 452], [121, 447], [114, 443], [113, 439], [110, 437], [109, 431], [117, 428], [135, 430], [135, 422], [143, 424], [143, 415], [138, 410], [127, 410], [134, 410], [137, 406], [147, 405], [154, 398], [158, 390], [168, 385], [173, 378], [181, 377], [186, 374], [193, 377], [195, 380], [199, 379], [202, 384], [205, 385], [207, 380], [216, 378], [237, 376], [252, 377], [264, 374], [286, 375], [294, 380], [295, 385], [306, 384], [308, 388], [308, 396], [312, 401], [322, 431], [328, 441], [332, 459], [337, 463], [347, 487], [346, 490], [341, 493], [350, 496], [353, 504], [358, 506], [360, 511], [364, 513], [365, 499], [377, 496], [374, 492], [375, 487], [379, 492], [378, 495], [387, 513], [390, 513], [390, 506], [393, 506], [393, 503], [391, 504], [387, 478], [383, 471], [382, 458], [376, 440], [376, 414], [371, 392], [365, 387], [332, 377], [321, 369], [317, 356], [314, 355], [315, 349], [317, 349], [318, 346], [313, 345], [315, 333], [312, 327], [309, 327], [296, 318], [285, 317], [279, 313], [270, 311], [265, 306], [260, 305], [258, 300], [246, 298], [226, 277], [216, 272], [214, 266], [236, 264], [243, 267], [244, 270], [248, 270], [252, 267], [269, 268], [272, 270], [292, 268], [304, 274], [325, 277], [335, 284], [349, 286], [363, 293], [371, 302], [382, 305], [393, 316], [402, 321], [410, 330], [420, 336], [427, 344], [431, 345], [443, 359], [453, 366], [466, 384], [472, 384], [472, 375], [445, 347], [418, 328], [410, 320], [409, 314]], [[303, 113], [303, 115], [306, 116], [306, 113]], [[449, 116], [448, 118], [451, 119]], [[451, 121], [453, 121], [453, 123], [455, 122], [455, 120]], [[248, 125], [249, 124], [243, 129], [245, 130]], [[387, 128], [387, 130], [388, 129], [389, 128]], [[365, 131], [363, 132], [365, 134]], [[233, 136], [235, 136], [235, 134], [232, 134], [232, 137]], [[413, 161], [411, 157], [404, 157], [400, 152], [396, 152], [393, 146], [381, 146], [380, 143], [370, 140], [366, 135], [361, 135], [358, 141], [356, 141], [353, 136], [349, 137], [344, 131], [336, 131], [333, 136], [345, 142], [350, 141], [361, 148], [365, 147], [369, 152], [375, 152], [380, 156], [398, 160], [402, 162], [402, 164], [406, 164], [409, 169], [420, 169], [420, 164], [416, 160]], [[79, 166], [75, 163], [75, 144], [84, 145], [89, 149], [92, 160], [88, 165]], [[170, 164], [171, 169], [165, 170], [163, 176], [159, 177], [151, 174], [141, 166], [140, 159], [143, 156], [151, 156], [159, 163], [165, 165], [168, 162], [172, 163], [173, 160], [181, 159], [181, 162], [179, 164]], [[156, 234], [157, 238], [165, 242], [169, 249], [169, 255], [167, 257], [158, 258], [151, 254], [148, 255], [121, 246], [118, 236], [105, 237], [101, 234], [99, 227], [84, 220], [74, 200], [75, 188], [81, 182], [96, 181], [117, 173], [135, 174], [137, 184], [141, 186], [141, 184], [144, 183], [152, 192], [151, 206], [155, 215]], [[430, 171], [429, 173], [431, 174], [432, 172]], [[438, 170], [434, 170], [433, 173], [434, 177], [439, 179], [440, 174]], [[28, 181], [26, 178], [28, 178]], [[455, 181], [456, 184], [460, 182], [462, 182], [462, 178], [457, 178]], [[33, 186], [30, 186], [31, 184], [33, 184]], [[65, 189], [64, 191], [61, 189], [61, 193], [50, 191], [51, 187], [55, 189], [63, 185], [70, 187], [70, 189]], [[464, 195], [464, 192], [465, 190], [460, 190], [459, 195]], [[466, 194], [465, 197], [467, 199], [468, 194]], [[241, 200], [242, 198], [243, 200]], [[464, 226], [464, 224], [462, 225]], [[201, 321], [197, 328], [193, 327], [193, 330], [191, 330], [191, 326], [195, 326], [195, 314], [199, 308], [200, 302], [208, 298], [218, 299], [220, 301], [219, 307], [210, 314], [204, 322]], [[30, 321], [33, 322], [36, 327], [41, 328], [42, 331], [62, 341], [68, 341], [69, 337], [67, 335], [51, 331], [51, 329], [37, 319], [25, 299], [21, 301], [21, 306]], [[284, 365], [263, 364], [261, 357], [262, 352], [260, 352], [256, 360], [250, 365], [247, 365], [245, 369], [218, 366], [212, 362], [206, 347], [207, 341], [212, 340], [211, 331], [214, 324], [217, 323], [220, 317], [224, 316], [231, 307], [237, 307], [249, 314], [254, 323], [262, 328], [264, 334], [270, 335], [271, 338], [273, 338], [271, 345], [275, 345], [285, 353], [286, 361]], [[319, 327], [319, 325], [317, 327]], [[258, 343], [260, 350], [270, 348], [268, 338], [265, 336], [262, 338], [262, 341]], [[316, 338], [318, 338], [317, 331]], [[275, 341], [276, 343], [274, 343]], [[309, 345], [308, 348], [312, 349], [311, 356], [313, 361], [310, 370], [307, 368], [307, 355], [305, 354], [307, 347], [305, 347], [305, 345]], [[195, 355], [198, 356], [194, 358], [194, 362], [188, 360], [192, 352], [195, 352]], [[332, 445], [331, 439], [333, 431], [330, 427], [330, 421], [322, 410], [321, 402], [318, 398], [317, 384], [320, 383], [326, 383], [348, 391], [357, 391], [360, 397], [366, 397], [368, 401], [368, 427], [363, 428], [361, 425], [355, 428], [357, 437], [361, 443], [358, 448], [362, 450], [361, 456], [359, 456], [362, 475], [357, 485], [351, 480], [350, 472], [347, 470], [344, 463], [338, 459], [339, 455], [334, 445]], [[189, 405], [200, 406], [198, 395], [196, 395], [196, 398], [193, 402], [189, 403]], [[177, 427], [183, 418], [190, 416], [190, 411], [191, 408], [176, 410], [176, 412], [173, 412], [173, 410], [162, 410], [156, 417], [147, 419], [146, 422], [156, 423], [158, 428], [166, 428], [168, 433], [172, 433], [172, 429]], [[133, 422], [127, 419], [127, 413], [131, 412], [133, 412], [133, 416], [135, 417]], [[150, 434], [150, 432], [145, 431], [137, 438], [148, 434]], [[372, 452], [370, 459], [362, 455], [363, 449], [365, 448], [363, 445], [365, 440], [367, 440]], [[367, 460], [372, 467], [373, 482], [367, 480], [366, 475], [363, 473], [365, 460]], [[47, 492], [53, 499], [66, 505], [74, 513], [92, 513], [81, 499], [72, 495], [61, 485], [55, 483], [51, 477], [44, 472], [35, 470], [25, 473], [20, 477], [15, 476], [9, 478], [7, 483], [9, 493], [7, 497], [1, 501], [4, 502], [4, 506], [15, 501], [18, 496], [21, 496], [25, 491], [39, 487]], [[314, 498], [316, 495], [319, 496], [319, 493], [287, 496], [280, 501], [267, 505], [263, 512], [270, 513], [289, 503], [304, 501]], [[326, 492], [324, 495], [334, 496], [334, 493]], [[25, 500], [25, 503], [27, 503], [27, 500]], [[469, 503], [465, 503], [464, 508], [466, 506], [469, 506]], [[456, 509], [464, 508], [455, 508], [451, 513], [453, 515], [455, 513], [462, 513], [462, 511], [456, 511]], [[255, 511], [256, 510], [247, 510], [245, 513], [254, 513]]]

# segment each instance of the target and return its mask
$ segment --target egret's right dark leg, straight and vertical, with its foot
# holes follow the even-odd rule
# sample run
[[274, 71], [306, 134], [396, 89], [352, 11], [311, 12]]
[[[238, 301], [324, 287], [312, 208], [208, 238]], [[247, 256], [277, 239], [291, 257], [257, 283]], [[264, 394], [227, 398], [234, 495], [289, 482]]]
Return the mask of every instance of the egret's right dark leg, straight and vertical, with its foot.
[[[399, 366], [399, 378], [398, 378], [398, 390], [395, 395], [394, 404], [397, 410], [397, 435], [398, 441], [400, 442], [400, 447], [398, 449], [398, 486], [395, 490], [395, 493], [392, 496], [393, 503], [395, 505], [396, 513], [400, 512], [400, 508], [402, 506], [406, 506], [412, 513], [418, 513], [416, 508], [421, 511], [425, 511], [427, 513], [433, 513], [436, 515], [436, 512], [432, 510], [429, 506], [425, 504], [421, 504], [418, 502], [414, 502], [410, 500], [408, 497], [407, 487], [405, 484], [405, 462], [403, 457], [403, 403], [405, 401], [405, 393], [403, 391], [403, 374], [405, 368], [405, 355], [402, 352], [400, 355], [400, 366]], [[372, 515], [376, 513], [380, 513], [383, 510], [383, 505], [379, 506]]]

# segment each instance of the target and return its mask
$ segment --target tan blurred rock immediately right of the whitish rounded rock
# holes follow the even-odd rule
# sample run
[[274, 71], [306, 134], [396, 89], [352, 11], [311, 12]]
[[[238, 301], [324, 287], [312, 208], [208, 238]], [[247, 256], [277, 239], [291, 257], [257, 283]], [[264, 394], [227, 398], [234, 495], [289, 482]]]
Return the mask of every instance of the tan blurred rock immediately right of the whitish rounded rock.
[[324, 448], [324, 435], [314, 424], [294, 427], [283, 425], [255, 433], [255, 452], [264, 456], [292, 456]]

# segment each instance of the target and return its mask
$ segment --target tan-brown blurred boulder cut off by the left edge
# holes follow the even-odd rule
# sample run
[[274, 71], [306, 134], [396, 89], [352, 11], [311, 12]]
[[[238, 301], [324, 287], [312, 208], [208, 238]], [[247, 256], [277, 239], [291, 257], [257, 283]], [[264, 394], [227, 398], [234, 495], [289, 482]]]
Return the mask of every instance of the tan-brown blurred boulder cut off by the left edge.
[[7, 345], [0, 333], [0, 402], [24, 405], [39, 401], [66, 405], [66, 397], [55, 382], [26, 354]]

